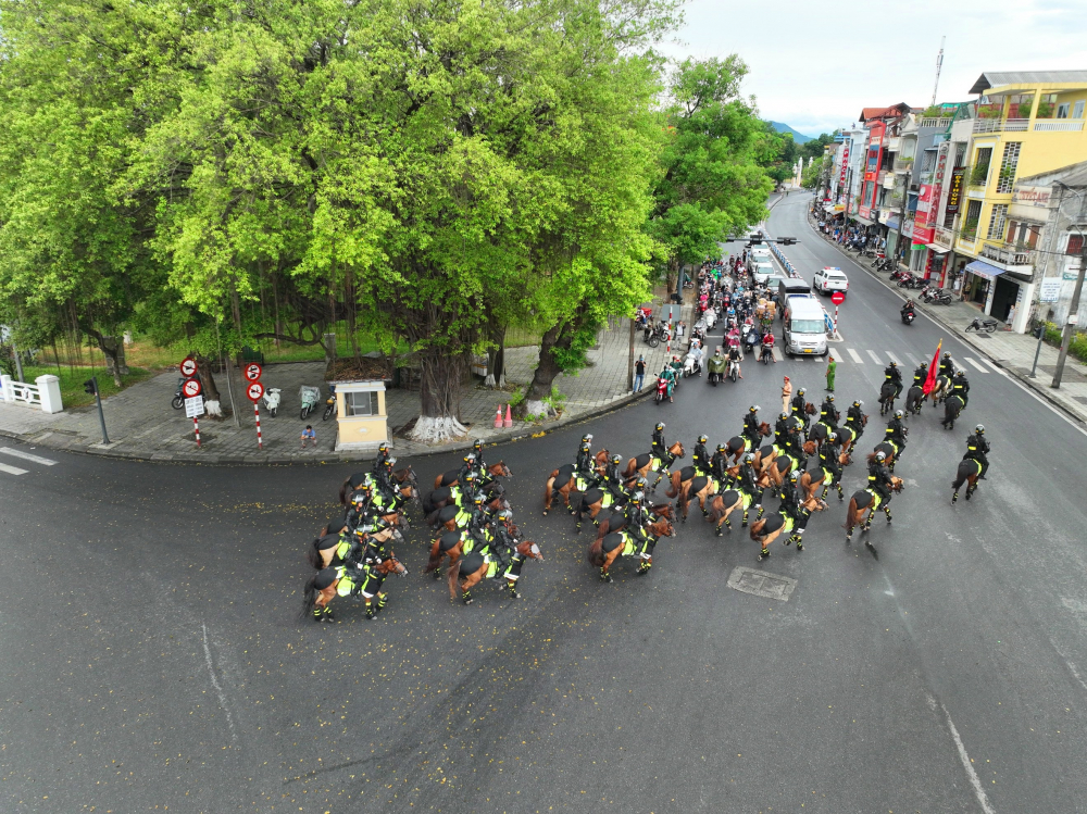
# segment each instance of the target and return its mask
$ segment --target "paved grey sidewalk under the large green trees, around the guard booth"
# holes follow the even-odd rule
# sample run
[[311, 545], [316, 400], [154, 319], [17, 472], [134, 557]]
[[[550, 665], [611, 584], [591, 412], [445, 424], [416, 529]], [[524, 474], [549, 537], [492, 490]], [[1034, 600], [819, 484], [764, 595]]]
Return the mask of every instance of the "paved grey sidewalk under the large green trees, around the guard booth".
[[[682, 309], [682, 317], [691, 325], [692, 305], [689, 300]], [[665, 306], [666, 313], [666, 306]], [[661, 311], [654, 302], [653, 312]], [[680, 312], [676, 308], [677, 314]], [[390, 389], [386, 391], [386, 409], [392, 447], [398, 455], [421, 455], [464, 449], [476, 438], [488, 443], [525, 438], [550, 431], [573, 422], [614, 410], [650, 391], [653, 376], [664, 366], [665, 347], [651, 349], [635, 337], [635, 359], [646, 356], [646, 386], [641, 393], [632, 393], [627, 379], [627, 360], [630, 347], [630, 323], [613, 318], [600, 333], [599, 343], [588, 352], [590, 366], [578, 376], [559, 376], [554, 384], [566, 396], [561, 418], [545, 424], [514, 422], [509, 429], [496, 429], [495, 413], [499, 405], [504, 415], [505, 404], [512, 392], [490, 390], [473, 383], [461, 391], [461, 421], [468, 427], [468, 435], [440, 446], [409, 441], [397, 435], [408, 422], [420, 414], [418, 390]], [[678, 352], [678, 351], [675, 351]], [[525, 385], [533, 376], [539, 360], [539, 348], [510, 348], [505, 352], [508, 385]], [[63, 413], [47, 415], [40, 410], [0, 403], [0, 436], [17, 438], [39, 447], [63, 449], [112, 458], [148, 461], [191, 461], [209, 464], [279, 464], [297, 462], [352, 461], [373, 458], [373, 453], [336, 452], [336, 423], [322, 422], [321, 412], [311, 414], [304, 422], [299, 418], [298, 391], [302, 385], [324, 384], [324, 362], [296, 362], [272, 364], [264, 368], [262, 380], [267, 387], [283, 390], [283, 401], [275, 418], [261, 410], [261, 433], [264, 449], [257, 447], [257, 428], [251, 403], [246, 399], [238, 372], [234, 372], [234, 403], [238, 410], [238, 424], [234, 416], [223, 421], [200, 419], [201, 446], [197, 448], [192, 419], [182, 410], [170, 406], [178, 374], [163, 373], [154, 378], [133, 385], [102, 402], [105, 412], [110, 446], [102, 447], [102, 434], [96, 408], [76, 408]], [[224, 408], [230, 399], [226, 376], [215, 377]], [[299, 449], [302, 428], [312, 424], [317, 433], [316, 449]]]

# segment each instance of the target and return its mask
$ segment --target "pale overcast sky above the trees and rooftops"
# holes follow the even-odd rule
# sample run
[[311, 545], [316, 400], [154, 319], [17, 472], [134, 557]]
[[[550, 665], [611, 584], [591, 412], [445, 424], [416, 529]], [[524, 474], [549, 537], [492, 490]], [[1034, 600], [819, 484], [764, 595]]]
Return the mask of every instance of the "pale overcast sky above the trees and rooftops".
[[738, 53], [763, 118], [808, 136], [861, 108], [965, 101], [983, 71], [1087, 70], [1087, 0], [690, 0], [672, 55]]

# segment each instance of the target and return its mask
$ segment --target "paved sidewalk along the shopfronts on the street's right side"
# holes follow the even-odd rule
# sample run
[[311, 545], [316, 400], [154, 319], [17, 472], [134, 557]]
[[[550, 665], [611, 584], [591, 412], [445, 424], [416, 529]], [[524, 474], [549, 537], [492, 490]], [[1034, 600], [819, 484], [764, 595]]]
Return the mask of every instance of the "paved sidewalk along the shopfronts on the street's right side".
[[[809, 224], [811, 221], [809, 220]], [[817, 234], [817, 233], [816, 233]], [[822, 236], [821, 236], [822, 237]], [[826, 240], [826, 238], [823, 238]], [[832, 241], [828, 243], [835, 246]], [[836, 247], [837, 248], [837, 247]], [[907, 291], [890, 281], [889, 273], [876, 272], [872, 268], [872, 260], [847, 253], [847, 256], [864, 271], [883, 283], [904, 301], [908, 293], [916, 296], [916, 291]], [[926, 304], [915, 300], [917, 310], [932, 316], [937, 323], [950, 330], [955, 337], [985, 354], [994, 363], [1002, 367], [1027, 387], [1041, 396], [1051, 404], [1059, 406], [1082, 424], [1087, 424], [1087, 365], [1072, 355], [1064, 363], [1064, 375], [1061, 387], [1054, 389], [1050, 385], [1057, 371], [1059, 349], [1045, 342], [1038, 356], [1037, 378], [1030, 378], [1034, 365], [1034, 354], [1038, 349], [1038, 340], [1029, 334], [1013, 334], [1004, 330], [999, 324], [995, 334], [966, 334], [964, 328], [975, 316], [984, 316], [980, 309], [969, 302], [959, 300], [950, 305]]]

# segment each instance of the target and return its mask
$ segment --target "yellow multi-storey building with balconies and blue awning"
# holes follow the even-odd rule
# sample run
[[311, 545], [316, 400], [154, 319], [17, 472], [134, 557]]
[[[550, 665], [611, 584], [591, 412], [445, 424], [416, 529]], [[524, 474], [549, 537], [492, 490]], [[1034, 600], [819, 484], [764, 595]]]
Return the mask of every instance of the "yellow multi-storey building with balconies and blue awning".
[[987, 72], [970, 92], [980, 96], [971, 105], [954, 229], [954, 252], [966, 261], [962, 290], [1023, 333], [1045, 222], [1022, 216], [1012, 191], [1017, 178], [1087, 161], [1087, 71]]

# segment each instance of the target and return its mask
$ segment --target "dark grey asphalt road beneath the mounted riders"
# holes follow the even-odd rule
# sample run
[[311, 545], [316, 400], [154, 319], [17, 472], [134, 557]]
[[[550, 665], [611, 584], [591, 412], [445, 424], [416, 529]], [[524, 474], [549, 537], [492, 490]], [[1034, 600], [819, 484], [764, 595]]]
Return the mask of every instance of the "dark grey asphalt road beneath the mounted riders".
[[[788, 254], [809, 278], [849, 274], [838, 400], [876, 412], [867, 351], [927, 358], [940, 330], [902, 326], [895, 295], [803, 226], [809, 200], [785, 199], [769, 228], [804, 241]], [[373, 622], [343, 601], [336, 625], [298, 617], [302, 548], [353, 467], [0, 444], [57, 462], [0, 455], [25, 469], [0, 471], [0, 810], [1087, 811], [1087, 439], [1003, 375], [971, 376], [954, 431], [932, 409], [911, 419], [878, 558], [846, 544], [837, 501], [802, 553], [761, 564], [739, 528], [715, 538], [696, 513], [650, 576], [626, 561], [601, 585], [589, 533], [540, 516], [547, 472], [586, 428], [626, 456], [660, 416], [689, 456], [752, 402], [772, 414], [786, 373], [822, 395], [817, 361], [748, 364], [736, 385], [686, 381], [674, 404], [489, 450], [547, 558], [523, 599], [487, 586], [450, 603], [416, 530]], [[952, 509], [976, 422], [990, 477]], [[880, 431], [874, 415], [864, 440]], [[412, 463], [424, 479], [454, 465]], [[847, 472], [848, 494], [864, 473]], [[730, 589], [736, 566], [797, 587], [787, 602]]]

